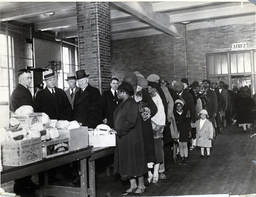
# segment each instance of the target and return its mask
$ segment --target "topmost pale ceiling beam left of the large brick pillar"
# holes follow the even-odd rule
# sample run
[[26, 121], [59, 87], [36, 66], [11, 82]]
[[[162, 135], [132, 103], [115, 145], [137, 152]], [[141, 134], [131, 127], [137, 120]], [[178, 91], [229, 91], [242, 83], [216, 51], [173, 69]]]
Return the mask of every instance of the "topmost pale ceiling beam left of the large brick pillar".
[[1, 21], [16, 20], [26, 17], [34, 17], [40, 14], [56, 12], [57, 10], [76, 7], [76, 2], [47, 2], [24, 8], [1, 12]]

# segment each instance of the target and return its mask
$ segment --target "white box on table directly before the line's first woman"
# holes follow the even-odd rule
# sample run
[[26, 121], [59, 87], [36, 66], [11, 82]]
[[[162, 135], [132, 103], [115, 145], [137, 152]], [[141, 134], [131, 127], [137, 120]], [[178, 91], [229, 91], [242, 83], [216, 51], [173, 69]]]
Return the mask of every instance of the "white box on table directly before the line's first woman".
[[108, 147], [115, 146], [115, 135], [89, 135], [89, 146], [93, 147]]

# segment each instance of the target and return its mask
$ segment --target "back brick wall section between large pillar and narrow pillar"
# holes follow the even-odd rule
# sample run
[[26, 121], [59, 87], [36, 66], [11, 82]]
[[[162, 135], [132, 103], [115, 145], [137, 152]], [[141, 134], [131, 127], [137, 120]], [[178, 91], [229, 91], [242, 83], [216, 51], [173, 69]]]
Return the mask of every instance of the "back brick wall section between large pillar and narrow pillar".
[[120, 81], [133, 71], [174, 79], [173, 37], [152, 35], [111, 42], [112, 76]]

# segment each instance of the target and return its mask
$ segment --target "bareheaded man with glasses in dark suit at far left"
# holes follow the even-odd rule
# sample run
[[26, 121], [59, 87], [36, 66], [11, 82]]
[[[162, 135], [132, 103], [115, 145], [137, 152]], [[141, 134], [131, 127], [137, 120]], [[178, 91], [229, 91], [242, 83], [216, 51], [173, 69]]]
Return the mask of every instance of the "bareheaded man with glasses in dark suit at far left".
[[[13, 110], [16, 111], [22, 105], [30, 105], [34, 108], [34, 101], [31, 92], [28, 90], [28, 86], [32, 82], [31, 72], [27, 69], [20, 69], [18, 71], [19, 83], [11, 94], [11, 103]], [[31, 175], [14, 180], [13, 191], [15, 193], [20, 192], [33, 192], [39, 189], [39, 185], [35, 184], [31, 180]]]

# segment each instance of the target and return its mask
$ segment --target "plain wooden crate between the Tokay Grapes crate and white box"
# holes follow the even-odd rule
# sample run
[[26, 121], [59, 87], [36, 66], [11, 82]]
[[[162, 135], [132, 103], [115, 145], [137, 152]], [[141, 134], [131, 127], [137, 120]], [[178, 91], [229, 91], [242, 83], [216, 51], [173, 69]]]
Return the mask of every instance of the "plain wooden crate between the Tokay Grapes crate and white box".
[[69, 139], [69, 150], [74, 151], [88, 146], [88, 127], [58, 129], [59, 137]]

